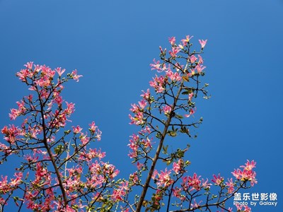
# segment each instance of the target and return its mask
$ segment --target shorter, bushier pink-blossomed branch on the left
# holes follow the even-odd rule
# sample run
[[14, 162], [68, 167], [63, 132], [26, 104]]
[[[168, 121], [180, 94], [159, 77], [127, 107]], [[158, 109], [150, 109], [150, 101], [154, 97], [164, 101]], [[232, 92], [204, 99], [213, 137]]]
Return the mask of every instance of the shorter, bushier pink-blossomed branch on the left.
[[[62, 77], [65, 69], [52, 70], [33, 62], [25, 68], [17, 76], [36, 97], [31, 94], [24, 97], [16, 102], [18, 109], [11, 110], [12, 120], [26, 117], [21, 127], [11, 125], [1, 129], [6, 141], [0, 143], [1, 161], [13, 154], [22, 155], [24, 160], [16, 168], [15, 178], [8, 181], [8, 176], [1, 176], [0, 209], [4, 210], [13, 193], [22, 195], [22, 198], [13, 196], [17, 206], [21, 208], [24, 203], [33, 211], [78, 211], [101, 199], [115, 201], [108, 198], [111, 192], [107, 188], [114, 187], [113, 179], [119, 170], [102, 161], [104, 152], [87, 148], [91, 141], [100, 141], [101, 131], [95, 122], [89, 124], [89, 134], [79, 125], [59, 133], [75, 110], [74, 103], [64, 101], [61, 96], [63, 84], [69, 79], [79, 81], [81, 75], [74, 70]], [[56, 73], [59, 78], [54, 81]], [[65, 138], [71, 131], [73, 137]], [[91, 202], [86, 201], [90, 194], [93, 194]]]

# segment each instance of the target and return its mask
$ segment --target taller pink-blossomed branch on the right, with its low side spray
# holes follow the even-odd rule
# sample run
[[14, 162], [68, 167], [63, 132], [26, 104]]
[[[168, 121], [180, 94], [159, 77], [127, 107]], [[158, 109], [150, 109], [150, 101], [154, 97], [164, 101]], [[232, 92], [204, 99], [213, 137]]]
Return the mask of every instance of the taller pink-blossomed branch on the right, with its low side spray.
[[[143, 206], [147, 210], [158, 210], [161, 208], [161, 201], [165, 196], [171, 196], [171, 194], [180, 201], [177, 203], [178, 201], [175, 200], [175, 205], [181, 208], [184, 206], [183, 203], [188, 201], [191, 206], [190, 211], [212, 206], [220, 208], [221, 211], [224, 209], [232, 211], [232, 208], [223, 208], [221, 204], [231, 198], [238, 189], [246, 188], [246, 182], [250, 182], [252, 186], [256, 182], [255, 172], [252, 171], [255, 163], [248, 162], [244, 170], [238, 169], [233, 172], [236, 180], [230, 178], [227, 182], [224, 182], [224, 177], [213, 175], [211, 182], [214, 183], [214, 186], [220, 188], [219, 195], [223, 199], [219, 197], [219, 201], [216, 203], [203, 200], [197, 201], [197, 197], [202, 196], [200, 192], [210, 191], [213, 184], [208, 179], [201, 179], [201, 176], [196, 173], [192, 176], [185, 175], [187, 172], [185, 167], [190, 164], [183, 160], [187, 148], [183, 150], [179, 148], [177, 151], [168, 153], [168, 146], [163, 143], [166, 135], [176, 136], [178, 132], [189, 134], [188, 126], [195, 126], [201, 122], [185, 124], [182, 119], [183, 117], [191, 117], [195, 113], [196, 107], [195, 102], [192, 102], [192, 98], [196, 97], [197, 93], [207, 95], [206, 90], [204, 90], [206, 86], [201, 87], [198, 79], [200, 76], [204, 76], [204, 69], [206, 68], [200, 54], [207, 44], [207, 40], [199, 40], [200, 52], [190, 52], [191, 38], [192, 36], [187, 35], [178, 45], [175, 37], [169, 37], [171, 44], [171, 49], [168, 52], [169, 57], [166, 57], [167, 49], [159, 47], [161, 61], [154, 59], [153, 64], [150, 64], [151, 70], [158, 72], [153, 80], [149, 82], [149, 86], [154, 88], [156, 95], [152, 95], [151, 91], [147, 89], [146, 92], [143, 91], [143, 94], [141, 94], [143, 99], [139, 104], [132, 104], [131, 112], [134, 113], [134, 117], [129, 114], [132, 121], [130, 124], [140, 125], [142, 128], [146, 126], [149, 128], [149, 134], [155, 134], [159, 140], [151, 142], [158, 145], [156, 146], [157, 151], [152, 156], [150, 156], [151, 150], [154, 149], [152, 144], [150, 149], [144, 147], [146, 139], [149, 140], [149, 134], [141, 134], [141, 131], [139, 131], [139, 134], [133, 134], [129, 140], [128, 146], [131, 149], [129, 157], [134, 158], [134, 162], [137, 163], [138, 167], [138, 171], [130, 176], [131, 189], [132, 186], [136, 185], [143, 188], [143, 193], [146, 193], [148, 188], [155, 191], [151, 195], [151, 200], [147, 200], [146, 196], [141, 194], [141, 198], [137, 201], [137, 211]], [[179, 59], [185, 59], [185, 65], [181, 65]], [[191, 81], [190, 78], [192, 78]], [[197, 83], [197, 85], [192, 86], [193, 82]], [[162, 113], [166, 115], [166, 120], [159, 117], [159, 114]], [[173, 122], [173, 120], [177, 121]], [[169, 127], [171, 129], [168, 129]], [[161, 149], [163, 155], [161, 155]], [[160, 171], [154, 169], [158, 160], [163, 160], [167, 165], [173, 163], [172, 169], [167, 167]], [[149, 165], [149, 162], [151, 162], [151, 165]], [[148, 170], [149, 167], [150, 170], [146, 181], [142, 182], [141, 173]], [[151, 184], [150, 179], [154, 181], [156, 186]], [[179, 179], [181, 180], [180, 187], [173, 187]], [[241, 180], [237, 181], [238, 179]], [[213, 195], [212, 199], [214, 199]]]

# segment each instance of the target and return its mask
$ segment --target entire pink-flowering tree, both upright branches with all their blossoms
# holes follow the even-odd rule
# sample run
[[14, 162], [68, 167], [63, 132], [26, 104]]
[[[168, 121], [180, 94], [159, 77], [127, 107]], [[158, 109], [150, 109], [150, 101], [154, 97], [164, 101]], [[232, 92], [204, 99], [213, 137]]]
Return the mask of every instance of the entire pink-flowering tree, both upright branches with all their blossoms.
[[[156, 76], [149, 82], [151, 90], [142, 91], [141, 100], [133, 104], [130, 124], [140, 129], [129, 140], [129, 157], [137, 170], [128, 179], [117, 179], [119, 171], [103, 162], [105, 153], [93, 148], [101, 131], [95, 122], [88, 131], [67, 122], [74, 103], [62, 98], [64, 83], [81, 75], [74, 70], [50, 69], [29, 62], [16, 76], [32, 94], [17, 102], [11, 119], [23, 117], [20, 127], [4, 126], [0, 143], [1, 163], [21, 158], [13, 177], [1, 175], [0, 211], [14, 201], [18, 211], [232, 211], [226, 201], [256, 183], [254, 161], [232, 172], [225, 181], [221, 175], [211, 180], [189, 174], [185, 153], [190, 145], [176, 141], [183, 135], [192, 137], [196, 98], [208, 98], [201, 54], [207, 40], [199, 40], [200, 51], [192, 50], [192, 37], [180, 44], [170, 37], [171, 49], [160, 47], [160, 59], [151, 64]], [[3, 172], [1, 173], [3, 174]], [[250, 211], [237, 206], [237, 211]]]

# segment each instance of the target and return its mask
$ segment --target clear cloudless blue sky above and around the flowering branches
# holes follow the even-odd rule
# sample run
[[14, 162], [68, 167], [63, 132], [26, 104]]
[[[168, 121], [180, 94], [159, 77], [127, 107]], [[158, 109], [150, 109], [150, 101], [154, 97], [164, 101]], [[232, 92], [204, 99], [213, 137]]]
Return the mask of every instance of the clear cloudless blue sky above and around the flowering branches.
[[[120, 170], [129, 165], [129, 107], [154, 76], [158, 46], [194, 35], [207, 39], [204, 81], [212, 98], [197, 105], [204, 122], [190, 141], [190, 169], [202, 177], [257, 164], [249, 192], [276, 192], [282, 211], [283, 1], [0, 1], [1, 127], [28, 94], [15, 76], [27, 61], [77, 69], [64, 99], [74, 124], [103, 131], [99, 145]], [[5, 172], [1, 170], [0, 175]]]

